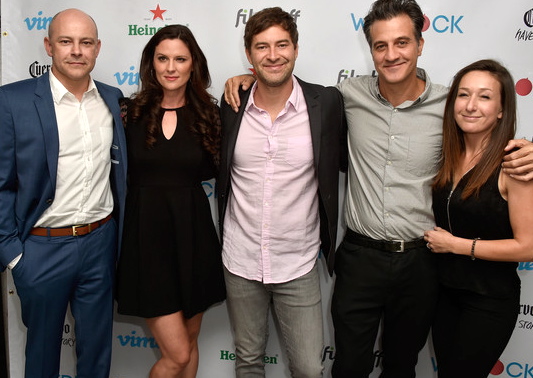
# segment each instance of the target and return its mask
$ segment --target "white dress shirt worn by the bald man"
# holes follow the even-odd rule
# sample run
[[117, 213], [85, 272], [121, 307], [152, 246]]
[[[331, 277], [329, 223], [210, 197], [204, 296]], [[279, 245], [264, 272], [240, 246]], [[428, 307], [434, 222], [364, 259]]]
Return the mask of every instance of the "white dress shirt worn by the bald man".
[[35, 227], [96, 222], [113, 210], [113, 116], [92, 79], [81, 101], [52, 72], [50, 87], [59, 134], [56, 192]]

